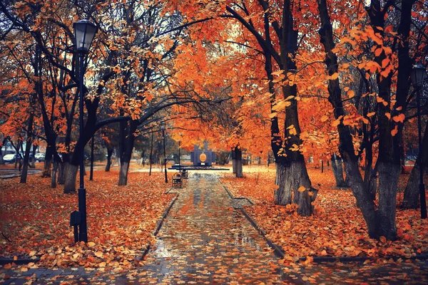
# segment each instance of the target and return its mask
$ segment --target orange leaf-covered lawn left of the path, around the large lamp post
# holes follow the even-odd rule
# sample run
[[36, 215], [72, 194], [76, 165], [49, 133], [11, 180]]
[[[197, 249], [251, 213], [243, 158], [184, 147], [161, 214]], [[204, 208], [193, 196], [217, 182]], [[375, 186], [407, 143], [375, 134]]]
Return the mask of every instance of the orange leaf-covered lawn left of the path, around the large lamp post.
[[78, 209], [75, 195], [63, 194], [50, 180], [29, 175], [26, 185], [19, 178], [0, 180], [1, 257], [40, 257], [40, 266], [131, 267], [153, 242], [153, 230], [172, 195], [163, 194], [163, 174], [133, 172], [128, 185], [117, 186], [118, 172], [94, 172], [86, 179], [88, 244], [73, 241], [70, 214]]

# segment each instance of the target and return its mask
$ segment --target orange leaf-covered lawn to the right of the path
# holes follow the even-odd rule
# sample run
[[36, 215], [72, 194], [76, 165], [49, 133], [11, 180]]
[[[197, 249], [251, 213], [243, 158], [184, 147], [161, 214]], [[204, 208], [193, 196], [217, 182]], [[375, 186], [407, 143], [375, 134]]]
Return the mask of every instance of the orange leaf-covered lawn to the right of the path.
[[[370, 239], [367, 227], [351, 190], [332, 189], [331, 170], [310, 169], [312, 185], [318, 190], [315, 215], [297, 216], [295, 207], [273, 203], [275, 172], [247, 172], [245, 178], [225, 175], [221, 180], [235, 197], [249, 197], [254, 206], [246, 207], [267, 237], [285, 249], [287, 259], [306, 256], [332, 257], [413, 257], [428, 252], [428, 221], [420, 210], [397, 210], [399, 239], [378, 242]], [[404, 184], [406, 177], [400, 177]], [[399, 193], [397, 200], [402, 199]], [[295, 206], [295, 205], [294, 205]]]

